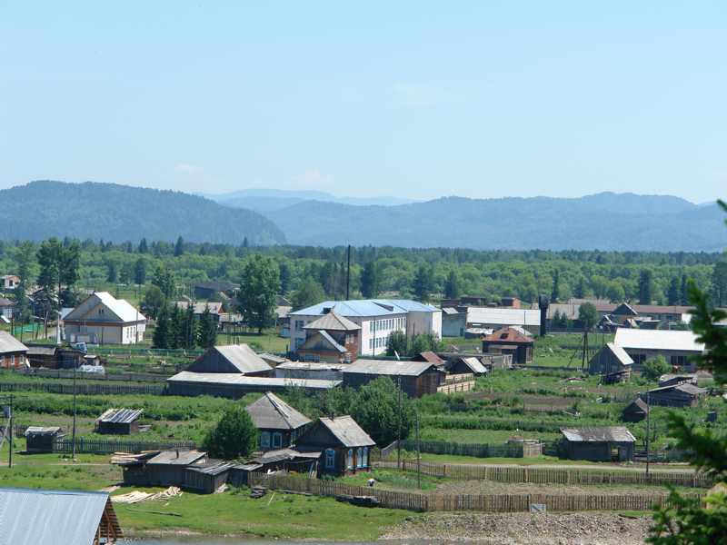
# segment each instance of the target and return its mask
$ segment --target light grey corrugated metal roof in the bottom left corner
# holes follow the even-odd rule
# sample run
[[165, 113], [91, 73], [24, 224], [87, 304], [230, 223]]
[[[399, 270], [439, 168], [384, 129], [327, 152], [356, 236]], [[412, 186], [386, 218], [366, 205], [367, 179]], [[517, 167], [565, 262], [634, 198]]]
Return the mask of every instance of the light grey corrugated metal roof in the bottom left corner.
[[107, 492], [0, 489], [2, 545], [91, 545]]

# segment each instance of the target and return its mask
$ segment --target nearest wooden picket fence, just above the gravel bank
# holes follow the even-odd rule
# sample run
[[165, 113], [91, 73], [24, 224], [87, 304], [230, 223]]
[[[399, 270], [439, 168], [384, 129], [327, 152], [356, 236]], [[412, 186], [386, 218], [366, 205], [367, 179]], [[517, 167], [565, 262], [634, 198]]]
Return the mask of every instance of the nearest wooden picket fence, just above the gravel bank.
[[382, 507], [415, 511], [518, 512], [530, 510], [533, 503], [543, 504], [548, 510], [651, 510], [656, 505], [669, 503], [666, 494], [423, 494], [258, 472], [250, 474], [248, 483], [251, 487], [263, 485], [271, 490], [293, 490], [316, 496], [374, 496]]

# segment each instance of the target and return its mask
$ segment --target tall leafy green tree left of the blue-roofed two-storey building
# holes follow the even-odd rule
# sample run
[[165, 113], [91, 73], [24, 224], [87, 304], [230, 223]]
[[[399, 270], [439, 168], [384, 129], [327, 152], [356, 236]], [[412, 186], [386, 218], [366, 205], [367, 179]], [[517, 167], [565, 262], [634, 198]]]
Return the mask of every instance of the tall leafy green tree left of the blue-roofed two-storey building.
[[280, 292], [280, 273], [270, 257], [254, 255], [244, 264], [237, 301], [244, 321], [257, 332], [275, 322], [275, 306]]

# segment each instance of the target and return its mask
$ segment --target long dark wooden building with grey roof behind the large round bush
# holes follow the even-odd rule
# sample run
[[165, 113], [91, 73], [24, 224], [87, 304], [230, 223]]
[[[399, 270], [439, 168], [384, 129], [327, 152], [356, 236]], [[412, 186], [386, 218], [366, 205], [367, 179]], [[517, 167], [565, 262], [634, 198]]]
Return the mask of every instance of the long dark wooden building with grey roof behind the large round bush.
[[400, 384], [409, 397], [436, 393], [444, 382], [443, 369], [429, 362], [392, 362], [358, 360], [344, 369], [344, 387], [359, 389], [379, 377], [389, 377]]

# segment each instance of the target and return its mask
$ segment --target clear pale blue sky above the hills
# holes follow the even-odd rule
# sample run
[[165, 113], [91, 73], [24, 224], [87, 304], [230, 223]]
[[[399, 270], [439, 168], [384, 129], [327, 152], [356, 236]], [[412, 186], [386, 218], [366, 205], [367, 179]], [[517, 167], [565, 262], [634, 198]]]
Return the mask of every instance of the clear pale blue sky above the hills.
[[724, 2], [0, 0], [0, 188], [727, 196]]

